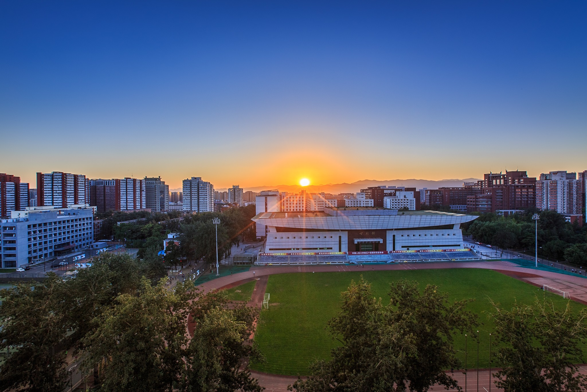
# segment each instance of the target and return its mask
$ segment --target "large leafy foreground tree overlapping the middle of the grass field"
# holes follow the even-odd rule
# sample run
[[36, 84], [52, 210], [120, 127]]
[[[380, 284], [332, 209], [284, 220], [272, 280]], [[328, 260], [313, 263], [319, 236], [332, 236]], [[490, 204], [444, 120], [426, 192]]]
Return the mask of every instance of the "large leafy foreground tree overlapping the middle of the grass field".
[[329, 321], [340, 341], [332, 360], [312, 364], [312, 376], [292, 386], [297, 391], [426, 391], [439, 383], [457, 387], [443, 370], [458, 367], [453, 334], [476, 325], [467, 300], [450, 304], [436, 286], [423, 293], [405, 280], [390, 287], [383, 306], [361, 279], [341, 294], [338, 316]]

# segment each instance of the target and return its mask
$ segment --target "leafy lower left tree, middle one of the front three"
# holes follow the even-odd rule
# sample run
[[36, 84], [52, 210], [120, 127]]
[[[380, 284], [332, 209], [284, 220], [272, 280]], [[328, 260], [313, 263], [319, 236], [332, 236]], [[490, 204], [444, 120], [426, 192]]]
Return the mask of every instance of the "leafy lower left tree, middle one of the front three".
[[[188, 280], [188, 282], [190, 282]], [[121, 294], [94, 319], [84, 340], [86, 368], [100, 366], [101, 390], [170, 391], [181, 371], [185, 319], [191, 299], [187, 286], [174, 293], [164, 282], [143, 278], [136, 295]]]

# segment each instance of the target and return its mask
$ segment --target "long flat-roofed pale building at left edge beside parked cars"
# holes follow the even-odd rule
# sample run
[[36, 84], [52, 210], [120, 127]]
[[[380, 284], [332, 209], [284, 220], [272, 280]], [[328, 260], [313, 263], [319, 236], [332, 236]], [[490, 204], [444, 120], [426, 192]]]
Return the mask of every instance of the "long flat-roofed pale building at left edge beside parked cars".
[[0, 220], [0, 264], [15, 268], [89, 247], [94, 238], [93, 211], [88, 205], [13, 211], [11, 219]]

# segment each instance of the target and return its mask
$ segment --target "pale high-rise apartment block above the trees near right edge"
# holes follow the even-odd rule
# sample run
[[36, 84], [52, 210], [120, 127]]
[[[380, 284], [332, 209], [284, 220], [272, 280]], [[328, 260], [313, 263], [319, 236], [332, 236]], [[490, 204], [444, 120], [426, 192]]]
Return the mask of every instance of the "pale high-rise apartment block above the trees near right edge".
[[560, 214], [582, 215], [584, 187], [583, 179], [576, 179], [576, 173], [566, 170], [542, 173], [536, 182], [536, 207]]

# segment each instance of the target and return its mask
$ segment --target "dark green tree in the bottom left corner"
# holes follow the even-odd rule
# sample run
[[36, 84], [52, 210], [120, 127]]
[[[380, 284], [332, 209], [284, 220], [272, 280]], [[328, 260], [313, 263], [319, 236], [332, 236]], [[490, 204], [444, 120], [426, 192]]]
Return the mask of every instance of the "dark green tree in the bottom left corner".
[[62, 280], [49, 274], [43, 283], [20, 283], [0, 293], [0, 349], [11, 350], [0, 368], [2, 390], [63, 390], [65, 353], [55, 352], [67, 329], [60, 309]]

